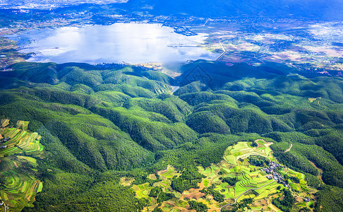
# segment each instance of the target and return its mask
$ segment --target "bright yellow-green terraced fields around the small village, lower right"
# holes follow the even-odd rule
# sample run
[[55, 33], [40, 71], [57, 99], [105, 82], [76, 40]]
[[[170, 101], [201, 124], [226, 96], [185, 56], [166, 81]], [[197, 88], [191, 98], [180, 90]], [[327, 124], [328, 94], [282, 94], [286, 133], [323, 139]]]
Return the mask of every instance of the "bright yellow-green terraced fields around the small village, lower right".
[[[203, 203], [207, 206], [208, 211], [220, 211], [222, 206], [227, 204], [239, 204], [243, 199], [252, 198], [251, 211], [279, 211], [272, 205], [272, 198], [281, 196], [282, 189], [285, 189], [283, 184], [279, 184], [274, 179], [268, 179], [267, 173], [261, 171], [261, 167], [256, 167], [248, 162], [250, 155], [260, 155], [276, 161], [272, 156], [270, 145], [264, 140], [256, 140], [258, 145], [251, 146], [251, 142], [239, 142], [234, 146], [229, 146], [224, 153], [224, 160], [210, 167], [203, 168], [198, 166], [198, 172], [205, 175], [201, 182], [198, 183], [197, 189], [188, 189], [182, 193], [176, 192], [172, 187], [173, 177], [179, 177], [181, 174], [174, 167], [168, 166], [166, 170], [157, 172], [160, 176], [158, 182], [150, 185], [145, 184], [133, 185], [133, 190], [136, 192], [136, 197], [148, 199], [148, 208], [145, 211], [152, 211], [155, 207], [159, 207], [162, 211], [187, 211], [187, 202], [194, 200]], [[280, 174], [296, 177], [299, 183], [289, 180], [289, 186], [297, 200], [296, 206], [310, 206], [313, 203], [316, 192], [307, 186], [305, 176], [302, 173], [290, 170], [283, 167]], [[150, 179], [156, 179], [156, 175], [150, 175]], [[236, 179], [236, 184], [229, 185], [225, 182], [227, 178]], [[122, 179], [123, 182], [131, 181], [131, 179]], [[163, 201], [158, 204], [157, 198], [149, 196], [150, 191], [154, 187], [162, 187], [163, 192], [172, 193], [175, 195], [173, 199]], [[224, 195], [224, 201], [215, 201], [212, 194], [205, 195], [200, 192], [204, 188], [214, 187], [214, 190]], [[287, 188], [286, 188], [287, 189]], [[304, 198], [311, 199], [310, 202], [304, 202]], [[225, 208], [229, 209], [230, 206]]]

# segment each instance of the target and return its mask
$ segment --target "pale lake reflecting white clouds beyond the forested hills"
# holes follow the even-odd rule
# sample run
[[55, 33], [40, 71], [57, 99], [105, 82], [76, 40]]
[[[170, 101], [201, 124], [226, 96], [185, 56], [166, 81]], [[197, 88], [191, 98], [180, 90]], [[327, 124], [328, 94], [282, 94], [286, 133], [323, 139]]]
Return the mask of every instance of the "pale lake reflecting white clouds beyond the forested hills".
[[[11, 36], [28, 61], [90, 64], [214, 60], [219, 54], [198, 47], [205, 34], [185, 36], [160, 24], [114, 23], [80, 28], [31, 30]], [[180, 47], [181, 46], [181, 47]]]

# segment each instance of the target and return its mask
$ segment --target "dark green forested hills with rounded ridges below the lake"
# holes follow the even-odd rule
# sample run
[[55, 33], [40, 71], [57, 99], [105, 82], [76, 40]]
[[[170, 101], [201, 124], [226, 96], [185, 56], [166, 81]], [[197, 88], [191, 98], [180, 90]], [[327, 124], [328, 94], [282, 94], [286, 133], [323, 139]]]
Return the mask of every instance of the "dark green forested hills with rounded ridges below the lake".
[[167, 165], [207, 167], [236, 141], [261, 138], [319, 187], [318, 210], [342, 208], [330, 196], [343, 188], [342, 78], [212, 61], [186, 64], [175, 79], [136, 66], [11, 68], [0, 72], [0, 116], [29, 121], [46, 151], [37, 158], [42, 193], [25, 211], [140, 211], [120, 177], [145, 182]]

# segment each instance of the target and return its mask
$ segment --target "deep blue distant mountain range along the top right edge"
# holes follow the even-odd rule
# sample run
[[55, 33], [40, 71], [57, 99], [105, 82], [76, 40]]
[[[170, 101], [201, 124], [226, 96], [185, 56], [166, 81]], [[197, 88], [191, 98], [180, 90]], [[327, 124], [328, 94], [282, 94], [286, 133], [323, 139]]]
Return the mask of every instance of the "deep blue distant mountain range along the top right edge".
[[342, 0], [129, 0], [124, 5], [154, 15], [343, 18]]

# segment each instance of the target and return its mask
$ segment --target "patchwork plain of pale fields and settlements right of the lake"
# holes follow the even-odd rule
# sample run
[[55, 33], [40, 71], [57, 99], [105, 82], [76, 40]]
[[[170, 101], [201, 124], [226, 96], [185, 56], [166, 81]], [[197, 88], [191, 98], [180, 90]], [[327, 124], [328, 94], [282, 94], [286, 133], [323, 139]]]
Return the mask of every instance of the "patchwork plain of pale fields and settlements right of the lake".
[[244, 62], [254, 66], [272, 61], [299, 69], [306, 67], [318, 73], [323, 68], [329, 73], [342, 71], [339, 58], [342, 57], [343, 47], [335, 45], [342, 43], [342, 26], [335, 23], [275, 22], [273, 25], [277, 30], [271, 30], [266, 23], [256, 25], [265, 28], [264, 32], [251, 31], [251, 25], [242, 22], [225, 21], [208, 21], [206, 26], [194, 27], [194, 30], [209, 35], [202, 45], [204, 49], [221, 54], [224, 46], [226, 52], [219, 61]]

